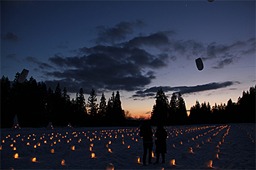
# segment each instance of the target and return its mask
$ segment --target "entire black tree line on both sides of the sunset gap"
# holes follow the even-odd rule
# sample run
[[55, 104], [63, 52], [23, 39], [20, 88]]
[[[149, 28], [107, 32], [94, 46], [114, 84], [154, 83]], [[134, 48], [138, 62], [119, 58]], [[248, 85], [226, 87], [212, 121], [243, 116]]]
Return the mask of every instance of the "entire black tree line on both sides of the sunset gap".
[[[15, 115], [22, 128], [46, 127], [49, 122], [54, 126], [65, 127], [68, 123], [76, 127], [91, 126], [138, 126], [139, 120], [126, 120], [122, 109], [119, 91], [107, 99], [102, 93], [97, 103], [95, 89], [85, 102], [82, 88], [75, 98], [70, 100], [68, 91], [60, 89], [57, 84], [55, 91], [47, 89], [44, 82], [36, 82], [31, 77], [22, 84], [18, 83], [16, 73], [11, 84], [8, 77], [1, 78], [1, 128], [11, 128]], [[151, 112], [151, 125], [198, 125], [218, 123], [255, 123], [255, 87], [242, 92], [242, 97], [234, 103], [231, 99], [227, 104], [211, 107], [210, 103], [199, 103], [191, 107], [190, 115], [186, 104], [179, 93], [172, 94], [169, 102], [162, 89], [156, 93], [156, 101]]]

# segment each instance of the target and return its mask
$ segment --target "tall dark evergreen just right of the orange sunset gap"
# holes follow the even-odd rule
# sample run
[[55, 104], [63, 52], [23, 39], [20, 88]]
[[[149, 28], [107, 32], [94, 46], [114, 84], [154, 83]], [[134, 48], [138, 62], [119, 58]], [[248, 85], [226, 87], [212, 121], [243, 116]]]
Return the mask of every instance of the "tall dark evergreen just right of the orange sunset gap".
[[164, 91], [159, 89], [156, 93], [156, 103], [151, 112], [151, 120], [156, 125], [166, 125], [167, 113], [169, 111], [169, 101]]

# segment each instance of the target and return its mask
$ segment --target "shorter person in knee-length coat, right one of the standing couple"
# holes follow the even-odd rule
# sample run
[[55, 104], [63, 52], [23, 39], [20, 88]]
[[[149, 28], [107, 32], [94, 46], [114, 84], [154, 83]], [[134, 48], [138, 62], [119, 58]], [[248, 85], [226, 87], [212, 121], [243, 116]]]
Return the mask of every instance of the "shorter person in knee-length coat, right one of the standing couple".
[[167, 151], [166, 151], [167, 132], [163, 126], [161, 126], [161, 125], [157, 126], [156, 133], [155, 133], [154, 137], [157, 138], [155, 140], [155, 144], [156, 144], [156, 163], [155, 164], [159, 163], [160, 154], [162, 157], [161, 163], [165, 163], [165, 154], [167, 153]]

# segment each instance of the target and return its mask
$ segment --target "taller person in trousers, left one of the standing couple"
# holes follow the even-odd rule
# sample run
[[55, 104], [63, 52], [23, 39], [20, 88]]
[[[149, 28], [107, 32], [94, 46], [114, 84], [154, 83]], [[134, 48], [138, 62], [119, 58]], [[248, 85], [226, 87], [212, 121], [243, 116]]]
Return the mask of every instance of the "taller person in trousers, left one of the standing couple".
[[149, 164], [151, 164], [152, 158], [152, 148], [153, 148], [153, 132], [149, 122], [147, 120], [144, 121], [144, 124], [139, 128], [139, 136], [142, 137], [143, 140], [143, 165], [146, 165], [146, 154], [149, 149]]

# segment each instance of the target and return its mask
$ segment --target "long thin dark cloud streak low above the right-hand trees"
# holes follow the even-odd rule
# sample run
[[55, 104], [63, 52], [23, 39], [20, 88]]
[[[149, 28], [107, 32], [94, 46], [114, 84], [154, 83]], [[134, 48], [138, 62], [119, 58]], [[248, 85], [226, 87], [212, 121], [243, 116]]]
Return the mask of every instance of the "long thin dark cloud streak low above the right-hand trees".
[[159, 89], [162, 89], [165, 93], [171, 91], [174, 93], [181, 93], [183, 94], [192, 94], [192, 93], [198, 93], [201, 91], [209, 91], [209, 90], [216, 90], [220, 88], [225, 88], [227, 86], [231, 86], [233, 84], [239, 84], [238, 81], [225, 81], [225, 82], [213, 82], [209, 84], [203, 84], [203, 85], [197, 85], [197, 86], [154, 86], [149, 89], [146, 89], [144, 91], [137, 91], [136, 94], [132, 96], [134, 99], [138, 98], [146, 98], [155, 96], [156, 92]]

